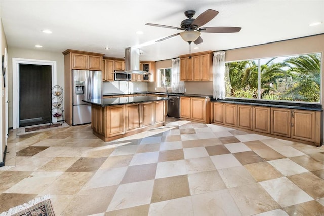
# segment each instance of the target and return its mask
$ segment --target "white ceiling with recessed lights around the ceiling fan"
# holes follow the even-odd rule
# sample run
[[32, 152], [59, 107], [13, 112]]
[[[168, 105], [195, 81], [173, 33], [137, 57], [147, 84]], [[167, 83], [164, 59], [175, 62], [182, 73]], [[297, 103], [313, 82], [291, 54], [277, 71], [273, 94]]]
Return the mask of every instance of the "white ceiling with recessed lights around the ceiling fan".
[[[189, 45], [180, 36], [152, 43], [181, 31], [145, 23], [180, 27], [186, 10], [196, 11], [193, 18], [207, 9], [219, 11], [204, 27], [242, 27], [239, 33], [201, 33], [204, 42], [197, 45], [199, 49], [192, 44], [191, 52], [324, 33], [323, 23], [309, 26], [324, 21], [324, 0], [0, 0], [0, 7], [9, 48], [74, 49], [123, 58], [125, 48], [139, 47], [140, 59], [153, 61], [188, 54]], [[45, 34], [43, 29], [53, 33]], [[35, 48], [36, 44], [43, 48]]]

